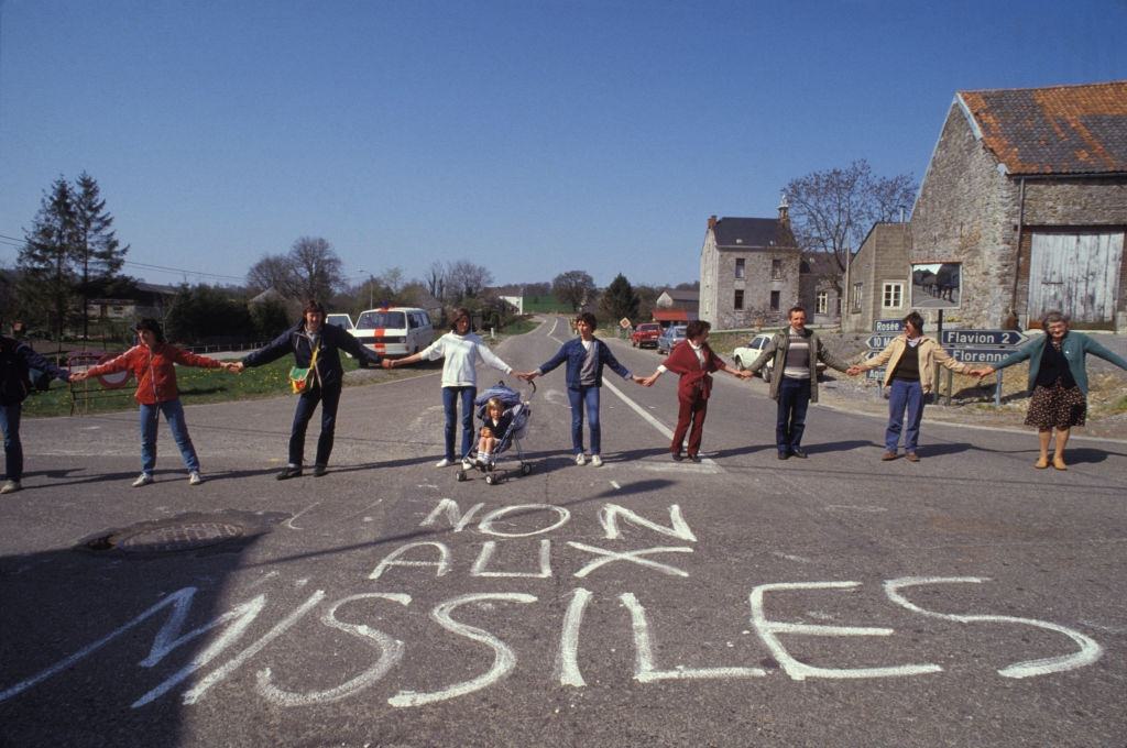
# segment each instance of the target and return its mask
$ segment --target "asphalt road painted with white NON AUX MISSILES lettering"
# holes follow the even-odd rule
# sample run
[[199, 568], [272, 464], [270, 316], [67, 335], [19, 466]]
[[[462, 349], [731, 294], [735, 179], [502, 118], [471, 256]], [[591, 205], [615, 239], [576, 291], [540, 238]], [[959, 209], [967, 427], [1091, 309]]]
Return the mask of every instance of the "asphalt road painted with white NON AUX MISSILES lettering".
[[[290, 398], [189, 404], [197, 488], [163, 426], [130, 488], [134, 413], [25, 421], [0, 743], [1124, 745], [1127, 447], [1035, 471], [1031, 434], [925, 418], [922, 461], [882, 463], [880, 419], [814, 407], [779, 462], [774, 404], [720, 375], [678, 464], [675, 377], [609, 373], [579, 468], [562, 371], [538, 384], [532, 473], [498, 486], [433, 466], [435, 372], [347, 389], [319, 479], [274, 480]], [[240, 536], [152, 545], [192, 533]]]

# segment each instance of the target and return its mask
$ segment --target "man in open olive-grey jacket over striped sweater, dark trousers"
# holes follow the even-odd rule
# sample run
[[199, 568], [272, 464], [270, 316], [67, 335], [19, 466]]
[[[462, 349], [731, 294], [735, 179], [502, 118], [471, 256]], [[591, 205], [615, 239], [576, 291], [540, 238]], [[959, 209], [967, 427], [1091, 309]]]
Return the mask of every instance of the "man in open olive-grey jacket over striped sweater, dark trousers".
[[790, 328], [775, 333], [755, 363], [752, 373], [774, 360], [771, 377], [771, 399], [778, 403], [775, 418], [775, 446], [779, 458], [806, 457], [802, 431], [806, 429], [806, 410], [818, 401], [818, 362], [844, 372], [849, 365], [829, 355], [814, 330], [806, 328], [806, 310], [791, 306], [787, 317]]

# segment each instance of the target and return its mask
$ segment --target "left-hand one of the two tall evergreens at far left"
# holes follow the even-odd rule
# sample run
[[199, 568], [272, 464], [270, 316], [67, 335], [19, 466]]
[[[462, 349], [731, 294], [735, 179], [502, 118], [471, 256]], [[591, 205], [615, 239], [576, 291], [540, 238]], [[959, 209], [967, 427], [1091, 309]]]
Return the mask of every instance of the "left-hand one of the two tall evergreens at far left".
[[44, 193], [29, 231], [24, 232], [18, 266], [20, 295], [27, 309], [47, 311], [47, 327], [62, 340], [74, 287], [74, 201], [70, 185], [59, 177]]

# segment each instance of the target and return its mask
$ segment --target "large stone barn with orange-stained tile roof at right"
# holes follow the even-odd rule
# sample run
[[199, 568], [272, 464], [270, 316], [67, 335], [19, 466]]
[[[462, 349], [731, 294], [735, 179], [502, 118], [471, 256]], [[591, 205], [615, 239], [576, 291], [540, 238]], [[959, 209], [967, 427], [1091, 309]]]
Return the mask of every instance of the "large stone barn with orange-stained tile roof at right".
[[1036, 327], [1059, 309], [1127, 331], [1127, 81], [956, 94], [909, 233], [909, 262], [960, 264], [953, 322]]

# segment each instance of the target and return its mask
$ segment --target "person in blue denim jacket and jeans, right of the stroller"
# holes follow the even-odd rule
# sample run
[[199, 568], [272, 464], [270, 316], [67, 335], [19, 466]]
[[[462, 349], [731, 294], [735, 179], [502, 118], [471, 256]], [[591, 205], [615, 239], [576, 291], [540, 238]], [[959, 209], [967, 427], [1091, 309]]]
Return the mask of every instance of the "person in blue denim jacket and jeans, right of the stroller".
[[595, 328], [598, 320], [591, 312], [583, 312], [575, 320], [575, 329], [579, 337], [571, 338], [556, 353], [554, 356], [540, 365], [540, 368], [529, 376], [531, 382], [538, 376], [542, 376], [560, 364], [567, 363], [565, 369], [565, 381], [567, 382], [567, 397], [571, 403], [571, 449], [575, 454], [575, 464], [587, 464], [587, 457], [583, 449], [583, 412], [587, 411], [587, 428], [591, 431], [591, 464], [595, 468], [603, 465], [602, 457], [602, 429], [598, 424], [600, 392], [603, 386], [603, 367], [610, 366], [614, 373], [624, 380], [633, 380], [639, 384], [642, 377], [635, 376], [630, 371], [619, 363], [611, 353], [610, 347], [595, 337]]

